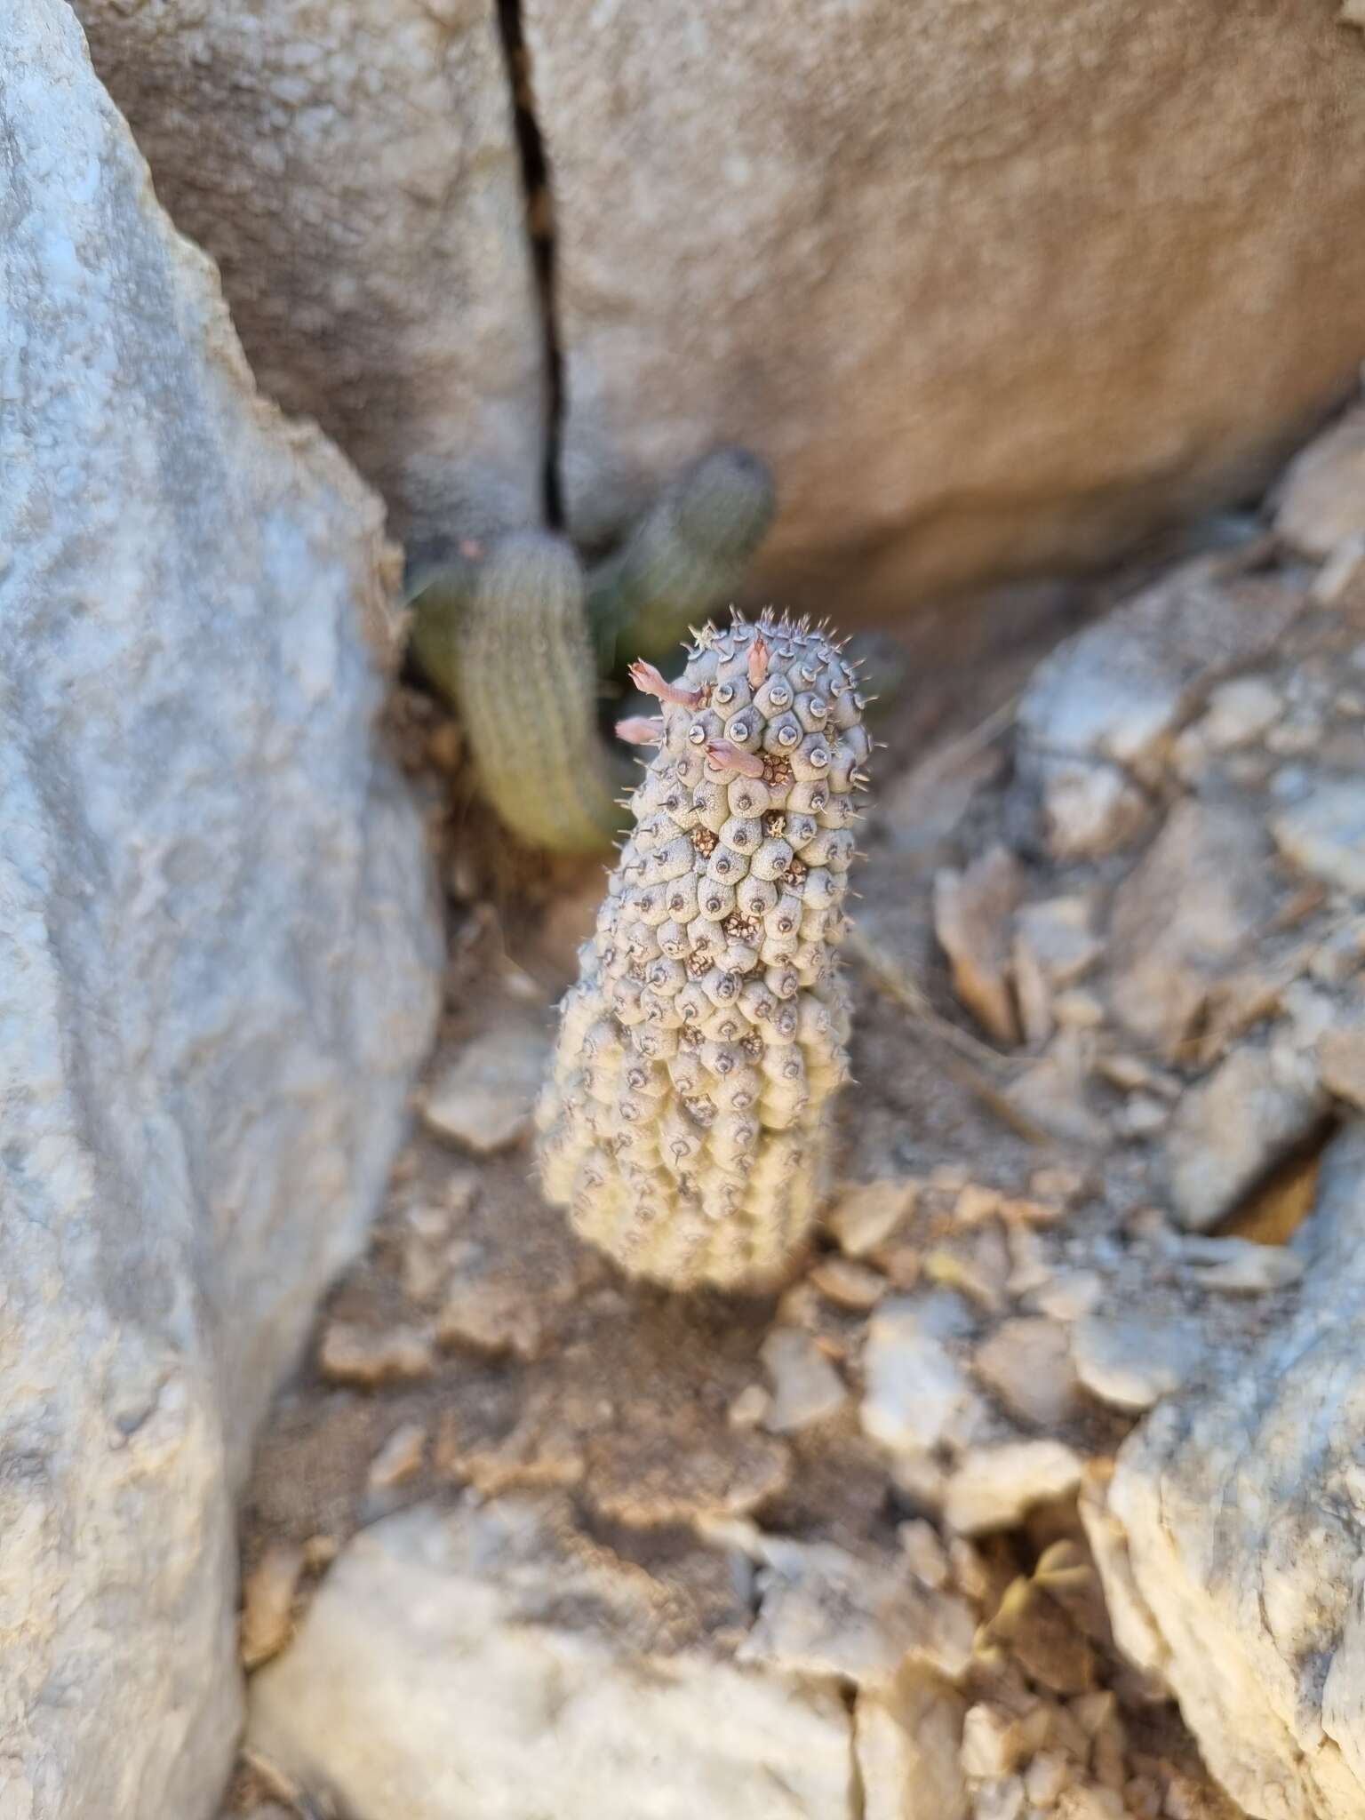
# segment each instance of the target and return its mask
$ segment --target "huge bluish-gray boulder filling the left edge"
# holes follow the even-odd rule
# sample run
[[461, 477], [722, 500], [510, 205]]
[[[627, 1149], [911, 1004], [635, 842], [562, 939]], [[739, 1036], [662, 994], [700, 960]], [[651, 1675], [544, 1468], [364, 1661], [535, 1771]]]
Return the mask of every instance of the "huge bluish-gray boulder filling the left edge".
[[195, 1820], [231, 1512], [435, 997], [380, 508], [257, 399], [62, 0], [0, 36], [0, 1813]]

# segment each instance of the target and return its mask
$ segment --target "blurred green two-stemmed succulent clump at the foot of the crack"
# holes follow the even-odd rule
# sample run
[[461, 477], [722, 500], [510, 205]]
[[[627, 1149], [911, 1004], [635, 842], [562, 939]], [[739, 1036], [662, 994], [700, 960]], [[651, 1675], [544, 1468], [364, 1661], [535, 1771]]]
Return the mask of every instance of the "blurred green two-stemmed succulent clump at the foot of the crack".
[[763, 462], [717, 450], [592, 579], [542, 531], [411, 577], [413, 655], [459, 708], [484, 794], [521, 839], [595, 852], [622, 830], [632, 774], [597, 719], [617, 650], [675, 650], [739, 584], [772, 511]]

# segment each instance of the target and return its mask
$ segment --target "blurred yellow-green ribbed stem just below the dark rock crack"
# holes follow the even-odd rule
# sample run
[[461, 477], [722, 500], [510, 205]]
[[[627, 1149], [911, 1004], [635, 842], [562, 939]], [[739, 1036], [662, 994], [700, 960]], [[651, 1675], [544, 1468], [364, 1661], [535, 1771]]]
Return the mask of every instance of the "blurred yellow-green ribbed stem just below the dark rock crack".
[[597, 730], [582, 568], [521, 531], [417, 601], [413, 648], [459, 708], [484, 795], [533, 846], [597, 852], [622, 826], [622, 779]]

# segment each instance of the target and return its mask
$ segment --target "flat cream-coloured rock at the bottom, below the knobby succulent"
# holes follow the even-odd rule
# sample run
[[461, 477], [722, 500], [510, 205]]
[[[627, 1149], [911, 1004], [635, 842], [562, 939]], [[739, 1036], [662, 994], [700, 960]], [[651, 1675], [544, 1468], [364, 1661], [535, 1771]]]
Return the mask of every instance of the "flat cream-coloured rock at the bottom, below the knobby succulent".
[[677, 1629], [546, 1500], [419, 1507], [339, 1560], [253, 1682], [251, 1744], [366, 1820], [852, 1820], [837, 1685], [708, 1660]]

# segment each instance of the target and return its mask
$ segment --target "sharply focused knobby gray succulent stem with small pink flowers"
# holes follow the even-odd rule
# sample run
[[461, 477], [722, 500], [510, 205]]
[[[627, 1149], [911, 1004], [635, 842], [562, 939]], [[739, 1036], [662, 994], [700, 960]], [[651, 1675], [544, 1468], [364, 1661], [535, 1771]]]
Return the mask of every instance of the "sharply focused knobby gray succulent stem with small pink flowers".
[[804, 622], [706, 626], [664, 684], [635, 830], [562, 1005], [539, 1107], [548, 1198], [632, 1276], [781, 1276], [846, 1077], [835, 966], [870, 741]]

